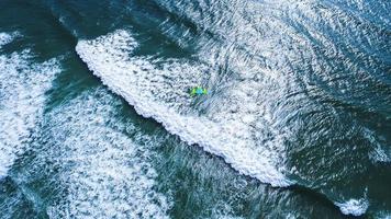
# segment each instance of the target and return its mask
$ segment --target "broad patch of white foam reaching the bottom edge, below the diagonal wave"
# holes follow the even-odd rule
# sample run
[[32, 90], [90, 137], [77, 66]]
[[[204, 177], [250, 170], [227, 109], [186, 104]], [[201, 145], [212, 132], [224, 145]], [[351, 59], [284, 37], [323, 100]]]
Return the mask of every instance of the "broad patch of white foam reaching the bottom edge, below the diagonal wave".
[[[51, 218], [168, 218], [170, 200], [155, 192], [157, 141], [116, 118], [105, 89], [83, 92], [51, 112], [49, 155], [62, 166], [67, 192]], [[129, 134], [130, 131], [130, 134]]]

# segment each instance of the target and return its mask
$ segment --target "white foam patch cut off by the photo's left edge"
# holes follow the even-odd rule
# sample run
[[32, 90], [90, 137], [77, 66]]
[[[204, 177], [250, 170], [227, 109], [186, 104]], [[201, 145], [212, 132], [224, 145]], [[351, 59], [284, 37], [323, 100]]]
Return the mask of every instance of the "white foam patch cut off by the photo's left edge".
[[42, 117], [45, 92], [60, 70], [55, 59], [32, 64], [30, 54], [0, 56], [0, 178], [29, 146]]

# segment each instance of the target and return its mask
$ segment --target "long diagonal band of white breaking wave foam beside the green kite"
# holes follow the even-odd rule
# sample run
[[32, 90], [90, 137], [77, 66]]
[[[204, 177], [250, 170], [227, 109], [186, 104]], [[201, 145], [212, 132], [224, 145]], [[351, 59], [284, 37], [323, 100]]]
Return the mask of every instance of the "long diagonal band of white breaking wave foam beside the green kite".
[[[116, 31], [80, 41], [76, 50], [90, 70], [138, 114], [153, 117], [182, 140], [222, 157], [243, 174], [272, 186], [291, 184], [282, 174], [282, 143], [259, 145], [256, 140], [259, 114], [264, 112], [253, 95], [256, 82], [237, 83], [219, 100], [211, 97], [213, 112], [197, 115], [187, 89], [205, 83], [206, 67], [183, 60], [159, 64], [148, 57], [131, 57], [136, 46], [127, 31]], [[276, 135], [275, 139], [279, 138]]]

